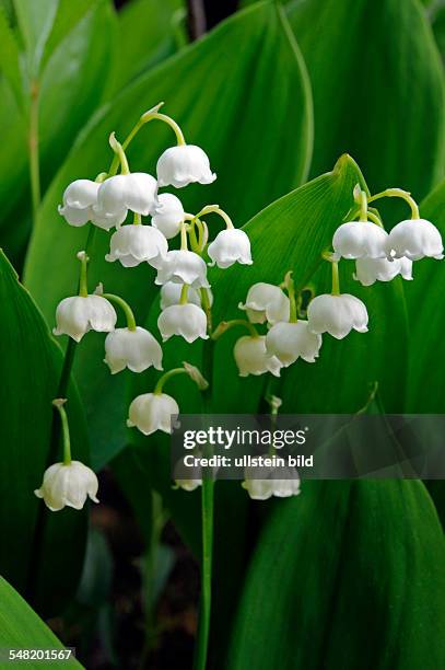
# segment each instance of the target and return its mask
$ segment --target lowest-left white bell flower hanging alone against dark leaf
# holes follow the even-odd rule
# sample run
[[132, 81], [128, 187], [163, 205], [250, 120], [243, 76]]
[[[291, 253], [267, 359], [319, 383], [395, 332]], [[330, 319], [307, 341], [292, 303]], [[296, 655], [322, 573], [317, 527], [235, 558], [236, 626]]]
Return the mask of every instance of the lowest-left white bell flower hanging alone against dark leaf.
[[97, 489], [94, 472], [80, 461], [71, 461], [50, 465], [45, 471], [40, 488], [34, 493], [51, 511], [59, 511], [66, 506], [82, 509], [89, 496], [93, 503], [98, 503]]

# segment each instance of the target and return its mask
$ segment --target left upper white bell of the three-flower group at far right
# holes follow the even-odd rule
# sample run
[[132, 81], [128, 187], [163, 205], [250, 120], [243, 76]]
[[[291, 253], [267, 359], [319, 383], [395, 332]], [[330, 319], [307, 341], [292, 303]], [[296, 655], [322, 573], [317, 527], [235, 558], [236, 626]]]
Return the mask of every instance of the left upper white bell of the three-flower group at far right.
[[348, 221], [332, 238], [333, 251], [343, 258], [385, 258], [388, 233], [371, 221]]

